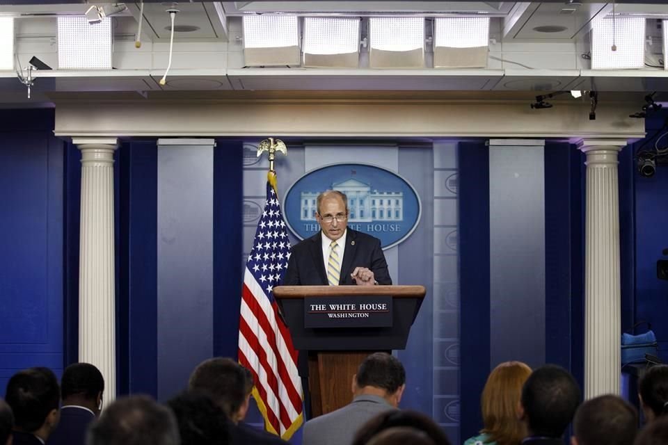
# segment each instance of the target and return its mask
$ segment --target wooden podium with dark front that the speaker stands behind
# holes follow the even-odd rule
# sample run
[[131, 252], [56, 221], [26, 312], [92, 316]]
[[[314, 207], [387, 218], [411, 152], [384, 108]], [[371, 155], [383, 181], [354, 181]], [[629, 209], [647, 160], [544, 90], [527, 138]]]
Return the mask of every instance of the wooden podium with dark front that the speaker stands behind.
[[[408, 332], [425, 293], [424, 286], [277, 286], [273, 289], [294, 347], [300, 354], [308, 353], [312, 417], [350, 403], [352, 377], [367, 355], [406, 348]], [[312, 298], [350, 302], [369, 296], [391, 297], [390, 325], [372, 327], [360, 322], [362, 325], [356, 327], [305, 326], [305, 312]]]

